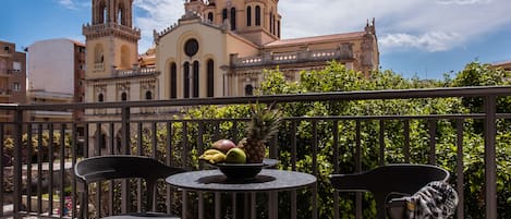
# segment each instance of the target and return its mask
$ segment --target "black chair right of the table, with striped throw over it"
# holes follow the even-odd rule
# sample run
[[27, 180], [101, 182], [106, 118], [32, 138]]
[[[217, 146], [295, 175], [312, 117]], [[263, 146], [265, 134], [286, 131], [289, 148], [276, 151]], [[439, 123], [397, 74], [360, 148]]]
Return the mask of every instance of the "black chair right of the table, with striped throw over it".
[[[353, 173], [332, 174], [330, 182], [339, 191], [368, 191], [376, 200], [377, 218], [385, 219], [388, 198], [392, 194], [413, 195], [433, 181], [447, 181], [449, 172], [428, 165], [387, 165], [376, 169]], [[392, 204], [404, 207], [403, 204]]]

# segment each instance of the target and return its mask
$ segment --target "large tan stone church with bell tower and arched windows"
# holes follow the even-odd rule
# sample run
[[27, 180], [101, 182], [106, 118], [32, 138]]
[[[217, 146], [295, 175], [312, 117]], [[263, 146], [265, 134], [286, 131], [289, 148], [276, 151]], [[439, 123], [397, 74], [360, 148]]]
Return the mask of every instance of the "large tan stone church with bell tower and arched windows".
[[[138, 54], [133, 0], [92, 1], [92, 23], [83, 25], [86, 102], [250, 96], [265, 70], [295, 81], [332, 60], [366, 75], [379, 66], [374, 20], [361, 32], [281, 39], [279, 0], [186, 0], [182, 17], [155, 29], [155, 47]], [[151, 112], [131, 114], [162, 114]], [[118, 113], [95, 110], [86, 120]]]

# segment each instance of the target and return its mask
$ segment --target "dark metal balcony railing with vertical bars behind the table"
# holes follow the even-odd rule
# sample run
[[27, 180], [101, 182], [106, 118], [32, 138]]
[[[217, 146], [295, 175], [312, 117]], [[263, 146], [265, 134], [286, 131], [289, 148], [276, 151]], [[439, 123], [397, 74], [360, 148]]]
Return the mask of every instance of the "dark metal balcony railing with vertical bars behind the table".
[[[437, 157], [443, 151], [438, 151], [436, 147], [438, 141], [437, 130], [438, 123], [442, 121], [450, 121], [455, 130], [455, 138], [453, 146], [455, 157], [452, 159], [454, 163], [452, 167], [445, 167], [451, 175], [455, 175], [451, 183], [457, 188], [460, 195], [460, 203], [458, 206], [457, 218], [467, 218], [465, 215], [465, 207], [467, 204], [464, 200], [464, 186], [472, 186], [464, 182], [464, 159], [467, 151], [464, 150], [463, 138], [465, 133], [466, 121], [480, 121], [484, 127], [484, 185], [480, 197], [484, 206], [482, 209], [485, 211], [486, 218], [496, 219], [498, 216], [497, 209], [504, 209], [504, 206], [499, 206], [497, 202], [497, 165], [496, 158], [496, 135], [497, 135], [497, 121], [511, 119], [510, 114], [497, 113], [496, 99], [497, 97], [510, 96], [511, 86], [502, 87], [471, 87], [471, 88], [438, 88], [438, 89], [415, 89], [415, 90], [377, 90], [377, 92], [350, 92], [350, 93], [324, 93], [324, 94], [300, 94], [300, 95], [276, 95], [276, 96], [259, 96], [259, 97], [223, 97], [223, 98], [194, 98], [194, 99], [174, 99], [174, 100], [157, 100], [157, 101], [136, 101], [136, 102], [102, 102], [102, 104], [69, 104], [69, 105], [3, 105], [0, 110], [13, 112], [14, 122], [0, 123], [0, 141], [5, 143], [5, 139], [12, 138], [13, 159], [7, 160], [5, 153], [2, 150], [1, 161], [2, 171], [0, 172], [1, 184], [9, 184], [7, 181], [12, 181], [12, 186], [3, 186], [0, 191], [0, 204], [13, 205], [13, 215], [21, 217], [24, 215], [36, 215], [39, 217], [51, 218], [68, 218], [76, 217], [76, 210], [81, 204], [77, 203], [76, 191], [80, 184], [72, 177], [71, 167], [82, 157], [92, 157], [106, 154], [138, 154], [149, 157], [158, 158], [159, 160], [174, 166], [186, 166], [192, 169], [198, 169], [200, 166], [196, 160], [192, 159], [194, 156], [204, 151], [208, 147], [209, 142], [218, 138], [232, 138], [239, 141], [243, 134], [246, 118], [228, 118], [228, 119], [206, 119], [206, 118], [185, 118], [179, 114], [158, 114], [158, 113], [131, 113], [133, 109], [158, 109], [158, 108], [195, 108], [198, 106], [228, 106], [228, 105], [247, 105], [253, 102], [277, 102], [279, 104], [303, 104], [311, 102], [349, 102], [361, 100], [381, 100], [392, 101], [397, 99], [437, 99], [437, 98], [482, 98], [484, 100], [484, 111], [479, 113], [455, 113], [455, 114], [364, 114], [364, 115], [343, 115], [330, 114], [320, 117], [305, 117], [297, 115], [284, 118], [284, 124], [279, 131], [279, 136], [270, 142], [269, 157], [281, 159], [280, 168], [289, 170], [306, 171], [318, 177], [318, 184], [308, 188], [305, 192], [290, 192], [290, 193], [271, 193], [269, 195], [258, 194], [258, 211], [260, 210], [261, 217], [268, 215], [278, 215], [279, 218], [321, 218], [330, 214], [329, 218], [340, 218], [343, 214], [353, 214], [356, 218], [362, 217], [363, 208], [367, 206], [362, 205], [361, 195], [357, 194], [353, 198], [356, 206], [354, 212], [344, 212], [340, 208], [341, 203], [345, 199], [351, 199], [352, 196], [345, 196], [339, 193], [331, 193], [331, 203], [320, 202], [318, 197], [319, 188], [327, 188], [328, 182], [321, 177], [321, 172], [326, 169], [331, 173], [348, 173], [353, 171], [363, 171], [367, 168], [364, 160], [373, 160], [377, 165], [388, 163], [389, 153], [399, 154], [402, 162], [417, 162], [413, 160], [417, 151], [414, 151], [414, 143], [411, 142], [411, 123], [414, 121], [422, 121], [426, 125], [422, 126], [425, 133], [428, 133], [428, 144], [423, 149], [423, 162], [438, 165]], [[83, 122], [59, 123], [59, 122], [23, 122], [27, 121], [24, 115], [26, 112], [35, 110], [95, 110], [95, 109], [112, 109], [113, 111], [120, 110], [121, 113], [117, 115], [109, 114], [108, 118], [101, 117], [88, 118]], [[144, 111], [144, 110], [138, 110]], [[165, 111], [165, 110], [162, 110]], [[150, 117], [153, 115], [153, 117]], [[99, 118], [99, 119], [98, 119]], [[401, 123], [402, 130], [392, 130], [396, 126], [388, 125], [392, 121]], [[306, 133], [307, 147], [303, 147], [303, 142], [297, 142], [300, 132], [297, 126], [301, 123], [308, 123], [311, 131]], [[343, 136], [343, 131], [340, 130], [341, 124], [343, 129], [353, 127], [350, 132], [355, 134], [353, 138]], [[364, 136], [361, 136], [364, 125], [376, 125], [379, 141], [376, 145], [369, 146], [370, 143], [364, 142]], [[222, 129], [223, 126], [223, 129]], [[228, 126], [228, 129], [226, 129]], [[326, 126], [332, 130], [324, 130]], [[4, 130], [13, 129], [13, 135], [8, 136]], [[95, 132], [101, 130], [101, 132]], [[165, 134], [156, 134], [156, 131], [165, 131]], [[318, 139], [318, 132], [330, 133], [329, 147], [331, 153], [327, 157], [321, 157], [320, 149], [325, 149], [325, 142]], [[386, 147], [386, 135], [388, 133], [401, 133], [402, 146], [401, 151], [388, 151]], [[49, 137], [45, 138], [45, 134]], [[69, 135], [70, 146], [59, 147], [64, 145], [64, 138], [58, 136]], [[143, 139], [142, 136], [146, 138]], [[186, 137], [183, 137], [186, 136]], [[42, 148], [39, 142], [42, 141], [25, 141], [25, 139], [47, 139], [48, 147]], [[145, 141], [148, 141], [145, 142]], [[285, 145], [278, 144], [284, 142]], [[33, 145], [36, 144], [36, 145]], [[341, 144], [348, 145], [348, 151], [340, 151]], [[3, 146], [7, 148], [7, 145]], [[36, 150], [27, 149], [35, 148]], [[372, 149], [374, 157], [366, 157], [368, 153], [363, 153]], [[42, 153], [44, 151], [44, 153]], [[288, 155], [289, 153], [289, 155]], [[287, 156], [283, 156], [285, 154]], [[325, 160], [341, 160], [346, 155], [351, 155], [352, 161], [350, 170], [340, 169], [338, 165], [326, 165]], [[284, 159], [285, 157], [285, 159]], [[303, 159], [311, 159], [311, 166], [301, 167]], [[416, 156], [415, 156], [416, 157]], [[466, 160], [465, 160], [466, 161]], [[11, 163], [12, 162], [12, 163]], [[337, 163], [337, 162], [333, 162]], [[66, 171], [62, 171], [66, 170]], [[9, 177], [11, 175], [11, 177]], [[11, 179], [11, 180], [9, 180]], [[108, 192], [104, 196], [90, 197], [93, 216], [109, 215], [112, 212], [126, 211], [130, 199], [115, 198], [112, 192], [115, 183], [110, 184]], [[142, 184], [138, 184], [139, 190]], [[233, 209], [235, 198], [232, 196], [217, 194], [190, 194], [184, 195], [183, 191], [178, 191], [165, 183], [161, 184], [163, 188], [158, 193], [158, 203], [160, 210], [172, 211], [179, 215], [186, 215], [187, 218], [197, 218], [204, 216], [205, 218], [226, 218], [229, 216], [229, 209]], [[141, 193], [133, 190], [121, 188], [121, 193], [126, 196], [133, 197], [134, 203], [137, 203], [136, 209], [141, 209]], [[331, 187], [330, 187], [331, 188]], [[115, 188], [117, 190], [117, 188]], [[68, 199], [57, 198], [53, 195], [60, 195], [68, 191], [70, 197]], [[102, 194], [101, 190], [96, 191], [97, 194]], [[48, 195], [48, 205], [44, 207], [42, 194]], [[34, 202], [31, 202], [31, 195]], [[132, 195], [132, 196], [130, 196]], [[305, 199], [303, 199], [305, 197]], [[232, 199], [231, 199], [232, 198]], [[299, 199], [300, 198], [300, 199]], [[510, 197], [507, 197], [510, 198]], [[207, 200], [207, 202], [206, 202]], [[299, 202], [300, 200], [300, 202]], [[102, 204], [101, 204], [102, 203]], [[278, 205], [276, 208], [268, 207], [270, 205]], [[66, 204], [70, 204], [66, 207]], [[266, 207], [265, 207], [266, 205]], [[321, 212], [320, 209], [324, 205], [330, 205], [332, 211]], [[82, 205], [83, 206], [83, 205]], [[94, 208], [96, 206], [96, 208]], [[99, 207], [100, 206], [100, 207]], [[119, 207], [121, 206], [121, 207]], [[303, 207], [305, 206], [305, 207]], [[70, 208], [70, 209], [68, 209]], [[0, 216], [7, 216], [0, 209]], [[227, 215], [222, 215], [226, 214]], [[208, 212], [208, 214], [198, 214]]]

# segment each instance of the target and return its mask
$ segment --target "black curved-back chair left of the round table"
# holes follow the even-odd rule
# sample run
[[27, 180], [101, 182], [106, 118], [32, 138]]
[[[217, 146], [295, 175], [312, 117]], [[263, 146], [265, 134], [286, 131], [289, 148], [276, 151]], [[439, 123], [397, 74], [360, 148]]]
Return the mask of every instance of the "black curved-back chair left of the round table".
[[[144, 179], [147, 186], [146, 192], [146, 205], [145, 211], [125, 214], [122, 216], [107, 217], [109, 219], [114, 218], [172, 218], [179, 219], [179, 217], [165, 215], [160, 212], [149, 212], [154, 210], [153, 202], [156, 190], [156, 182], [159, 179], [165, 179], [171, 174], [184, 172], [181, 168], [169, 167], [159, 162], [156, 159], [141, 156], [129, 156], [129, 155], [112, 155], [112, 156], [98, 156], [83, 159], [74, 167], [74, 173], [78, 181], [90, 184], [95, 182], [114, 180], [114, 179]], [[150, 191], [149, 191], [150, 190]], [[86, 196], [83, 193], [87, 191], [80, 191], [81, 204], [87, 205], [88, 202], [85, 199]], [[81, 207], [78, 217], [84, 216], [84, 207]]]

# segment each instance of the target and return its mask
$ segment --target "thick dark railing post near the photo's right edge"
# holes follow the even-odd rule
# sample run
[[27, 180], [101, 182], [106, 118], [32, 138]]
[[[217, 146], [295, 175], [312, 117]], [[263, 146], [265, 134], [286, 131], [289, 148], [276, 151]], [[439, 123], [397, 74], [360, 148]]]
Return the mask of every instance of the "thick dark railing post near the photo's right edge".
[[497, 219], [496, 96], [485, 98], [485, 185], [486, 219]]

